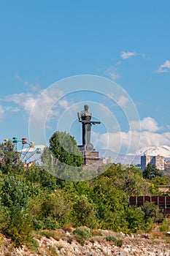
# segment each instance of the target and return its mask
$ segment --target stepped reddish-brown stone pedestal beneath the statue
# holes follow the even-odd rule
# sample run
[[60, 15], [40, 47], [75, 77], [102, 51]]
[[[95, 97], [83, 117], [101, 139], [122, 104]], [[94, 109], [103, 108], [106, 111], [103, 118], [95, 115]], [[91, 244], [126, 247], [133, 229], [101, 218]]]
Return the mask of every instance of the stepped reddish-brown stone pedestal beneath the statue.
[[99, 166], [103, 165], [103, 159], [98, 157], [99, 153], [94, 148], [93, 148], [93, 150], [88, 151], [87, 145], [80, 145], [78, 147], [79, 147], [80, 151], [82, 152], [85, 166], [96, 165], [99, 167]]

